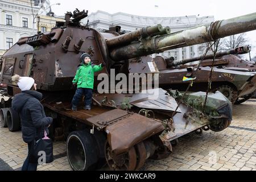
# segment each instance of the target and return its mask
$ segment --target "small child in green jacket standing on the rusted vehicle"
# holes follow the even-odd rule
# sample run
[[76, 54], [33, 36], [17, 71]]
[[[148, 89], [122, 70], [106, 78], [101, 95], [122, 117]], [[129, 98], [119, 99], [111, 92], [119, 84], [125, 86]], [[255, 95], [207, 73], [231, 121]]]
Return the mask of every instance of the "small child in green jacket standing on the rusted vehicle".
[[101, 71], [105, 63], [100, 65], [92, 65], [90, 55], [83, 53], [81, 55], [81, 64], [77, 68], [76, 76], [73, 79], [73, 84], [77, 84], [77, 90], [72, 100], [72, 110], [77, 110], [82, 95], [85, 96], [84, 109], [89, 110], [92, 104], [92, 91], [94, 82], [94, 72]]

